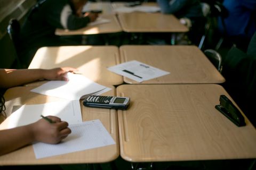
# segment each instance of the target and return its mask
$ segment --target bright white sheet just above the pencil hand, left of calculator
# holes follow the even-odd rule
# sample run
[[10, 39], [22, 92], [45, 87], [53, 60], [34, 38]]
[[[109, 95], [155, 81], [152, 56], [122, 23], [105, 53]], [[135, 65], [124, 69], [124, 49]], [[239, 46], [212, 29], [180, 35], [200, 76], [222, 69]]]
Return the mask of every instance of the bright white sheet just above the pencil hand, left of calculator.
[[[15, 128], [38, 121], [43, 116], [57, 116], [69, 124], [82, 123], [79, 100], [58, 101], [39, 105], [13, 106], [12, 114], [7, 117], [8, 128]], [[6, 119], [6, 120], [7, 120]]]

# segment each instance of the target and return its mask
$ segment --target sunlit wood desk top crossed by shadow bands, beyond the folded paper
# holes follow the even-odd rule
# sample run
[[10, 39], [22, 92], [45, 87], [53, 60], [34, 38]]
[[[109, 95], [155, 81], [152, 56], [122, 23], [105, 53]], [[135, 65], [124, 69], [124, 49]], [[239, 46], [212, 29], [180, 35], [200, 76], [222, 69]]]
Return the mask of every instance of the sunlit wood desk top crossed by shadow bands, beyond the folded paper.
[[37, 50], [29, 69], [70, 66], [94, 82], [117, 85], [123, 83], [122, 76], [107, 70], [116, 64], [119, 64], [119, 52], [115, 46], [43, 47]]

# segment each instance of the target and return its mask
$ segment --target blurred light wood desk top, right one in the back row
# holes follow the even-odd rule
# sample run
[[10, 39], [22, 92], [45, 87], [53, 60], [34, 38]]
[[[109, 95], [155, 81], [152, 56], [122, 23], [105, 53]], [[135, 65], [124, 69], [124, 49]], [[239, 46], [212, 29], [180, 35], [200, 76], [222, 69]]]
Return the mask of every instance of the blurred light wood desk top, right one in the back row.
[[162, 13], [118, 13], [125, 32], [187, 32], [188, 28], [171, 14]]

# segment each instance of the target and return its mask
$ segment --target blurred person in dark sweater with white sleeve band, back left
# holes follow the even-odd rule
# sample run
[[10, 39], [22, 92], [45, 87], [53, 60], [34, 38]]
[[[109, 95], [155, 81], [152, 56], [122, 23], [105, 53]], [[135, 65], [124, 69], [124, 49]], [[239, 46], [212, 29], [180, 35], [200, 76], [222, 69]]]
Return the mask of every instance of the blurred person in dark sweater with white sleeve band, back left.
[[44, 46], [79, 45], [81, 37], [63, 38], [55, 29], [76, 30], [98, 18], [97, 13], [82, 13], [87, 0], [40, 0], [31, 9], [20, 30], [17, 49], [26, 67], [36, 50]]

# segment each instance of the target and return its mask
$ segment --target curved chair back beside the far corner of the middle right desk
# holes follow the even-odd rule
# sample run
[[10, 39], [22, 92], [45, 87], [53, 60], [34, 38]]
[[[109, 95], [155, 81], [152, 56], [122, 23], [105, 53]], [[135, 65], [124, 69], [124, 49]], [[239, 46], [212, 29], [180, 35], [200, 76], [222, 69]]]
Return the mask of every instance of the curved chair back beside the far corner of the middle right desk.
[[216, 67], [216, 69], [221, 73], [221, 71], [222, 71], [221, 55], [213, 49], [206, 49], [204, 51], [204, 54], [211, 61], [211, 63]]

